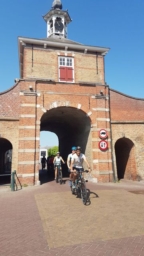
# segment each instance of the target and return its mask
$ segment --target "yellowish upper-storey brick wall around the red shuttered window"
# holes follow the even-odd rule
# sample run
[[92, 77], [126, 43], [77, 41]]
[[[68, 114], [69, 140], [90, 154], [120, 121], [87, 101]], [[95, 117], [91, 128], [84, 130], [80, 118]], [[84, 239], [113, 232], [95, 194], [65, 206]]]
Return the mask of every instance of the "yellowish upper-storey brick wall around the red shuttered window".
[[[66, 53], [74, 56], [75, 82], [99, 82], [104, 83], [104, 59], [98, 55], [98, 74], [96, 68], [96, 54], [84, 54], [81, 52]], [[58, 56], [65, 53], [57, 48], [34, 49], [32, 67], [32, 48], [24, 48], [24, 78], [53, 78], [58, 82]]]

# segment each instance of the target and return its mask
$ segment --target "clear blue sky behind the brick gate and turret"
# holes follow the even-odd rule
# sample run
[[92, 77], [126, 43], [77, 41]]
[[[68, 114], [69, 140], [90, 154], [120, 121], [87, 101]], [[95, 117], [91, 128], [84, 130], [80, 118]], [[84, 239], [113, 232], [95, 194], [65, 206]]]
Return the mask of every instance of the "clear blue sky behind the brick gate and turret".
[[[42, 15], [53, 0], [7, 0], [0, 6], [0, 92], [19, 78], [18, 36], [46, 37]], [[144, 98], [144, 0], [62, 0], [73, 19], [68, 39], [110, 47], [105, 77], [110, 88]]]

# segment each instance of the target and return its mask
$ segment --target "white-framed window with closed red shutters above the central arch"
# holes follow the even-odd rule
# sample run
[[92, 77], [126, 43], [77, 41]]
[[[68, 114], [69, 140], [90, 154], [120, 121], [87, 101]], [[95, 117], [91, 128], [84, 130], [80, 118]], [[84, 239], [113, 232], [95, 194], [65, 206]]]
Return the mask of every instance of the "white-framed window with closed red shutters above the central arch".
[[59, 57], [59, 81], [74, 82], [74, 59]]

